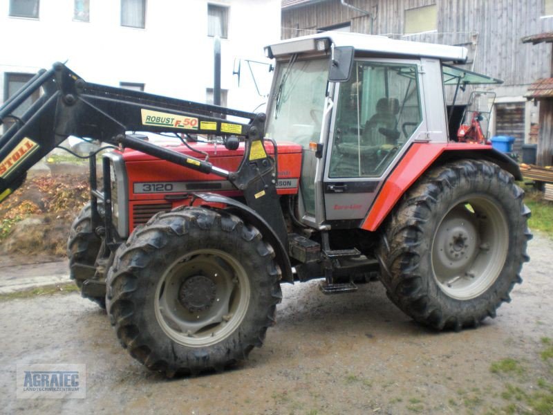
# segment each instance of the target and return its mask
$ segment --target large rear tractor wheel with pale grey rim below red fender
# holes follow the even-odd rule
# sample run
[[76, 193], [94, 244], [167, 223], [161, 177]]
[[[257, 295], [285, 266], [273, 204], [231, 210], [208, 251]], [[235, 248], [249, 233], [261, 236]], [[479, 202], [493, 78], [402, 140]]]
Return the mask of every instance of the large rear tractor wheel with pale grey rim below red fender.
[[529, 261], [523, 197], [511, 174], [484, 160], [422, 176], [386, 223], [378, 256], [388, 297], [438, 330], [496, 317]]

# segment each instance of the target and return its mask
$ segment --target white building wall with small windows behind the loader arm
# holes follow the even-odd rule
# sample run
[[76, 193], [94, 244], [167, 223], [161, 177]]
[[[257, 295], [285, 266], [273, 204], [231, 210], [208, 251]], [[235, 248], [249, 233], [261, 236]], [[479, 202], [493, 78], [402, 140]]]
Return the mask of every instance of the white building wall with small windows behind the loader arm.
[[[140, 29], [120, 26], [119, 0], [90, 0], [89, 23], [73, 21], [73, 0], [40, 0], [39, 19], [9, 17], [9, 0], [0, 0], [0, 102], [4, 73], [35, 73], [65, 60], [88, 82], [138, 82], [149, 93], [205, 102], [205, 91], [213, 86], [207, 3], [147, 0], [146, 27]], [[238, 89], [234, 58], [269, 63], [263, 46], [279, 40], [280, 0], [209, 3], [230, 8], [228, 39], [221, 39], [221, 87], [228, 90], [228, 106], [252, 111], [265, 99], [244, 65]], [[268, 84], [272, 73], [259, 73]]]

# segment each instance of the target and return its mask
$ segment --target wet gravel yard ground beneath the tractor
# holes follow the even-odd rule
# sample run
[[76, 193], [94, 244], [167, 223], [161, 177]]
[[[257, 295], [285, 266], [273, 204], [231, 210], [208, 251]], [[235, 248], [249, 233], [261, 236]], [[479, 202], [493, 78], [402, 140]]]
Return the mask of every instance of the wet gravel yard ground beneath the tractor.
[[[75, 293], [4, 299], [0, 412], [550, 414], [549, 401], [535, 409], [532, 396], [537, 382], [553, 383], [552, 360], [540, 354], [543, 338], [553, 337], [553, 241], [538, 235], [529, 253], [512, 303], [461, 333], [415, 324], [378, 283], [332, 297], [317, 282], [285, 285], [264, 346], [232, 371], [197, 378], [165, 380], [144, 369], [105, 313]], [[504, 367], [505, 358], [514, 364]], [[39, 362], [86, 364], [86, 399], [16, 399], [15, 365]]]

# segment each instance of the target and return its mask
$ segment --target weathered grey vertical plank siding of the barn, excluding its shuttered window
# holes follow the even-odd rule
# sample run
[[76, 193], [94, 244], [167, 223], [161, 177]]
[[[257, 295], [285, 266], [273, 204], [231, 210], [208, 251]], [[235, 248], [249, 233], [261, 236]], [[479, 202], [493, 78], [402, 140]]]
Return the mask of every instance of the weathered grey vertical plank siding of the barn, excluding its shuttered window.
[[[522, 44], [521, 37], [553, 31], [553, 18], [541, 19], [543, 0], [348, 0], [375, 12], [373, 34], [396, 39], [469, 48], [474, 71], [505, 81], [504, 86], [524, 86], [550, 76], [551, 45]], [[436, 33], [403, 35], [404, 10], [438, 5]], [[371, 17], [351, 10], [339, 0], [327, 0], [301, 8], [282, 10], [282, 37], [349, 23], [357, 33], [371, 32]]]

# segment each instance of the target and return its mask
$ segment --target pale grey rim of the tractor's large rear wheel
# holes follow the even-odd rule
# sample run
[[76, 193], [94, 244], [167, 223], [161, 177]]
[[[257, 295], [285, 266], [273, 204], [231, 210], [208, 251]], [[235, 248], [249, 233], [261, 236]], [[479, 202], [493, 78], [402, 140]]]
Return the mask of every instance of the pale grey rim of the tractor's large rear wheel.
[[478, 297], [498, 279], [508, 247], [503, 210], [488, 196], [471, 196], [453, 206], [435, 230], [434, 278], [449, 297]]

